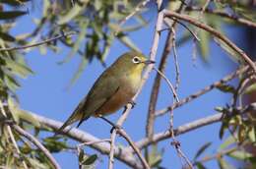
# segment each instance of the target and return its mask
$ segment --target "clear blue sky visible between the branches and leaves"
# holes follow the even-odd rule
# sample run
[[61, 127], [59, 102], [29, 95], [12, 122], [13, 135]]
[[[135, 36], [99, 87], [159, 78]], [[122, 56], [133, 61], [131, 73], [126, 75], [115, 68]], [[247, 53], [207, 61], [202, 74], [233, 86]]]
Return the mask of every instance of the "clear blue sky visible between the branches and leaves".
[[[19, 22], [19, 30], [14, 30], [14, 34], [25, 33], [32, 29], [32, 15], [24, 17]], [[150, 14], [152, 19], [151, 24], [147, 28], [143, 28], [129, 34], [131, 39], [141, 48], [143, 53], [149, 54], [153, 41], [154, 24], [156, 16]], [[28, 19], [29, 18], [29, 19]], [[27, 24], [21, 24], [21, 23]], [[183, 28], [179, 28], [183, 29]], [[236, 31], [228, 31], [228, 35], [232, 36]], [[160, 47], [157, 56], [157, 65], [159, 64], [160, 54], [165, 41], [166, 32], [163, 32], [160, 37]], [[238, 39], [239, 37], [236, 36]], [[236, 40], [237, 40], [236, 39]], [[196, 66], [192, 63], [192, 41], [182, 45], [177, 49], [178, 61], [180, 66], [181, 84], [178, 88], [179, 98], [184, 98], [187, 95], [203, 88], [208, 84], [212, 84], [235, 69], [235, 64], [225, 55], [224, 51], [215, 43], [210, 46], [209, 63], [205, 64], [198, 56]], [[109, 66], [119, 55], [129, 49], [122, 45], [117, 40], [111, 46], [111, 50], [106, 59], [106, 64]], [[32, 67], [33, 76], [27, 80], [22, 80], [22, 87], [17, 93], [20, 98], [20, 104], [23, 109], [30, 110], [34, 113], [43, 115], [48, 118], [64, 122], [72, 111], [76, 108], [80, 100], [87, 94], [90, 87], [96, 81], [96, 78], [104, 70], [101, 64], [94, 60], [89, 64], [81, 76], [81, 78], [71, 88], [67, 89], [72, 76], [78, 68], [80, 57], [75, 56], [69, 63], [58, 65], [57, 62], [62, 61], [67, 55], [68, 50], [63, 48], [60, 53], [48, 51], [45, 55], [41, 55], [38, 50], [32, 50], [27, 56], [29, 65]], [[168, 59], [166, 68], [166, 76], [173, 83], [175, 80], [173, 55]], [[147, 110], [149, 106], [150, 93], [156, 73], [153, 72], [149, 81], [145, 84], [141, 94], [137, 99], [137, 105], [132, 110], [130, 116], [124, 124], [124, 129], [131, 136], [133, 141], [139, 141], [145, 137], [145, 125], [147, 118]], [[210, 93], [203, 95], [195, 101], [188, 103], [174, 111], [174, 127], [188, 123], [190, 121], [202, 118], [211, 114], [215, 114], [214, 108], [224, 106], [230, 101], [230, 95], [224, 94], [219, 90], [213, 90]], [[160, 87], [160, 97], [158, 101], [158, 109], [170, 105], [172, 102], [172, 94], [169, 92], [168, 86], [164, 81]], [[120, 116], [120, 111], [108, 118], [115, 122]], [[157, 119], [155, 131], [156, 133], [166, 131], [169, 126], [169, 116], [165, 115]], [[91, 118], [84, 122], [80, 127], [81, 130], [91, 133], [98, 138], [107, 139], [110, 137], [110, 126], [105, 124], [100, 119]], [[214, 124], [202, 129], [192, 131], [177, 137], [181, 142], [181, 148], [184, 153], [192, 159], [198, 148], [207, 141], [212, 141], [213, 145], [206, 151], [213, 153], [221, 143], [219, 140], [220, 124]], [[78, 142], [69, 141], [71, 145]], [[127, 144], [123, 139], [118, 138], [117, 144]], [[181, 168], [180, 161], [174, 148], [170, 145], [170, 140], [161, 141], [160, 149], [164, 148], [162, 166], [166, 168]], [[86, 152], [95, 152], [89, 147], [85, 148]], [[77, 156], [71, 152], [63, 152], [54, 154], [61, 167], [64, 169], [77, 168]], [[99, 154], [99, 159], [96, 162], [96, 168], [106, 168], [107, 156]], [[216, 162], [208, 162], [209, 168], [216, 168]], [[115, 161], [116, 168], [126, 168], [121, 162]]]

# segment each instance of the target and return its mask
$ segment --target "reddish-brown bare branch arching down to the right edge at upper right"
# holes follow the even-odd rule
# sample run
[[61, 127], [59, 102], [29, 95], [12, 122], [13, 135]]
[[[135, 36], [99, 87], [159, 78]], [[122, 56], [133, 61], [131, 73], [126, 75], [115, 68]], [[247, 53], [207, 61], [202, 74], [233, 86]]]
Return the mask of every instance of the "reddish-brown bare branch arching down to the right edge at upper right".
[[253, 69], [254, 73], [256, 74], [256, 66], [253, 63], [253, 61], [250, 59], [250, 57], [247, 56], [242, 49], [237, 47], [232, 41], [230, 41], [226, 36], [224, 36], [221, 32], [219, 32], [215, 28], [211, 28], [210, 26], [200, 23], [188, 15], [178, 14], [178, 13], [167, 11], [167, 10], [163, 10], [163, 13], [164, 13], [164, 17], [175, 18], [175, 19], [186, 21], [198, 28], [203, 28], [206, 31], [209, 31], [212, 35], [222, 39], [227, 46], [229, 46], [231, 49], [233, 49], [242, 57], [242, 59]]

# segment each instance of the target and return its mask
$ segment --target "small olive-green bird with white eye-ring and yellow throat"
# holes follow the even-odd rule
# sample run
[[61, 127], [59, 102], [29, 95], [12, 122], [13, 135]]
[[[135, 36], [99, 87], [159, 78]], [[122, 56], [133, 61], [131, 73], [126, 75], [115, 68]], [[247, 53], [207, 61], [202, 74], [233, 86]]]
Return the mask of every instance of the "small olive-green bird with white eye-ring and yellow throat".
[[142, 53], [136, 51], [121, 55], [99, 76], [88, 95], [56, 134], [75, 122], [79, 121], [78, 128], [91, 116], [109, 115], [131, 102], [141, 84], [144, 68], [154, 63], [155, 61], [148, 60]]

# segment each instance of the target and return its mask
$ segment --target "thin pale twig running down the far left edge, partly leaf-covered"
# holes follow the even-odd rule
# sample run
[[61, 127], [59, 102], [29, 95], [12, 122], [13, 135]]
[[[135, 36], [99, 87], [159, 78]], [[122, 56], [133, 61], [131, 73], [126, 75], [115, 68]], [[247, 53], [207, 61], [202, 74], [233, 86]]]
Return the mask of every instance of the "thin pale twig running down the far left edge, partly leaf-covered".
[[[6, 111], [5, 111], [5, 108], [4, 108], [4, 105], [3, 105], [3, 102], [2, 102], [2, 101], [0, 101], [0, 110], [1, 110], [1, 112], [2, 112], [2, 114], [3, 114], [3, 116], [4, 116], [5, 118], [7, 118], [7, 113], [6, 113]], [[13, 142], [14, 147], [15, 147], [17, 153], [21, 156], [21, 150], [20, 150], [20, 148], [19, 148], [17, 142], [15, 141], [14, 134], [13, 134], [13, 132], [12, 132], [12, 129], [11, 129], [10, 125], [7, 124], [6, 127], [7, 127], [7, 132], [9, 133], [10, 139], [11, 139], [11, 141]], [[28, 167], [28, 165], [26, 164], [24, 158], [21, 158], [21, 159], [22, 159], [22, 163], [23, 163], [24, 168], [25, 168], [25, 169], [28, 169], [29, 167]]]

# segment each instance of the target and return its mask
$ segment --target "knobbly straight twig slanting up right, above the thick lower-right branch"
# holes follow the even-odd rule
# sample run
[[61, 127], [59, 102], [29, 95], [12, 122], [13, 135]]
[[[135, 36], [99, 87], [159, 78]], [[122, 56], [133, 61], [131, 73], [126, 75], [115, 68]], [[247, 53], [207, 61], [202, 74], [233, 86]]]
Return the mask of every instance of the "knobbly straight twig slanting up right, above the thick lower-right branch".
[[174, 103], [174, 104], [172, 104], [171, 106], [169, 106], [167, 108], [164, 108], [162, 110], [157, 111], [156, 116], [161, 116], [161, 115], [165, 114], [166, 112], [168, 112], [171, 109], [175, 109], [177, 107], [180, 107], [180, 106], [186, 104], [187, 102], [192, 101], [193, 99], [199, 97], [200, 95], [203, 95], [203, 94], [209, 92], [213, 88], [218, 87], [222, 84], [225, 84], [225, 83], [231, 81], [232, 79], [234, 79], [238, 75], [243, 74], [244, 72], [248, 71], [248, 69], [249, 69], [249, 66], [245, 66], [245, 67], [242, 67], [242, 68], [236, 70], [235, 72], [233, 72], [233, 73], [227, 75], [226, 77], [224, 77], [224, 79], [222, 79], [218, 82], [215, 82], [214, 84], [210, 84], [210, 85], [206, 86], [205, 88], [187, 96], [186, 98], [181, 99], [178, 103]]

